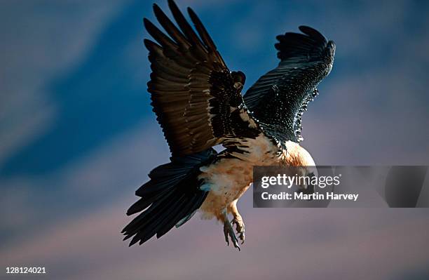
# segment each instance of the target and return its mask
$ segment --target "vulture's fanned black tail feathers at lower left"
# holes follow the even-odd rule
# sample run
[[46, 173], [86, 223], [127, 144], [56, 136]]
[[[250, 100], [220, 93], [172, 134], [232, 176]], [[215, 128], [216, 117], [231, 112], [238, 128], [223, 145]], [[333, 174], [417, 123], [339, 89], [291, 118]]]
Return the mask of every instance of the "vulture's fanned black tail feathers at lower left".
[[171, 162], [149, 173], [151, 180], [135, 194], [141, 198], [127, 211], [139, 213], [124, 229], [124, 240], [134, 236], [130, 246], [143, 244], [156, 234], [160, 238], [175, 225], [183, 225], [200, 208], [208, 192], [200, 189], [200, 166], [214, 159], [217, 152], [207, 149], [189, 156], [175, 156]]

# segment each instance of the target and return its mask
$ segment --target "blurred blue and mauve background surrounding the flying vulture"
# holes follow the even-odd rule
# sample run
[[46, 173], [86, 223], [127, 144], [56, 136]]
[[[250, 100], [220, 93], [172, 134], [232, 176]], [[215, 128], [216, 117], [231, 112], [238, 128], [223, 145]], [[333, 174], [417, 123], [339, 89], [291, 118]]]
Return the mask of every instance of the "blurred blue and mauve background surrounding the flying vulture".
[[[248, 192], [240, 253], [198, 217], [128, 248], [125, 211], [169, 156], [146, 91], [152, 3], [0, 1], [1, 279], [34, 265], [37, 279], [429, 279], [426, 209], [257, 209]], [[245, 89], [277, 65], [276, 35], [309, 25], [336, 42], [303, 117], [316, 164], [428, 164], [428, 1], [177, 4]]]

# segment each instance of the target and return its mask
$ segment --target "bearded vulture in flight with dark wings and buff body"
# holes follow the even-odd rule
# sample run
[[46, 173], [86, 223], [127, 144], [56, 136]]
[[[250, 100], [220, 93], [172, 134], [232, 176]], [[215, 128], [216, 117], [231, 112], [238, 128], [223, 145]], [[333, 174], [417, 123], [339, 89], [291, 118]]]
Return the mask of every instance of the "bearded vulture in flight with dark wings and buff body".
[[315, 166], [299, 145], [301, 116], [332, 69], [335, 44], [306, 26], [278, 35], [278, 66], [241, 95], [245, 74], [230, 71], [196, 13], [188, 8], [195, 31], [174, 1], [168, 6], [177, 25], [154, 4], [165, 32], [144, 18], [154, 39], [144, 45], [151, 105], [170, 163], [154, 168], [135, 192], [139, 200], [127, 215], [139, 214], [123, 229], [124, 240], [132, 238], [132, 246], [160, 238], [200, 211], [222, 222], [226, 243], [240, 250], [245, 224], [237, 201], [252, 183], [253, 166], [302, 166], [303, 173]]

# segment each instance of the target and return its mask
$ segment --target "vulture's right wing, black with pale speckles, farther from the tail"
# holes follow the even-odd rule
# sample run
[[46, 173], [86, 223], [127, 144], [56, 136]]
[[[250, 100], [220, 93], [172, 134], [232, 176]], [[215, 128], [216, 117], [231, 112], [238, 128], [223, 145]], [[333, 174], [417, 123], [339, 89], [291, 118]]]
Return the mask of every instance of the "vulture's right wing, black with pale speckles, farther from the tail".
[[299, 29], [304, 34], [287, 32], [277, 36], [278, 67], [261, 76], [244, 95], [261, 128], [280, 144], [301, 140], [301, 115], [334, 62], [333, 41], [311, 27]]

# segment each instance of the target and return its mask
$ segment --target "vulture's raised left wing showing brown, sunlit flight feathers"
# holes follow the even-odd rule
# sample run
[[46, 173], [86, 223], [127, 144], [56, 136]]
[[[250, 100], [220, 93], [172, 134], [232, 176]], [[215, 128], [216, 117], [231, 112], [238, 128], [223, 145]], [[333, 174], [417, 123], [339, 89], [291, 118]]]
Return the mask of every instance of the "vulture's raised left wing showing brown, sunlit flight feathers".
[[158, 43], [144, 40], [152, 69], [148, 91], [172, 156], [184, 156], [234, 135], [236, 124], [231, 114], [243, 104], [240, 92], [245, 75], [229, 71], [191, 8], [188, 12], [199, 37], [174, 1], [168, 1], [168, 6], [179, 28], [156, 4], [154, 13], [170, 36], [144, 19], [144, 26]]

